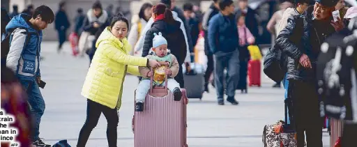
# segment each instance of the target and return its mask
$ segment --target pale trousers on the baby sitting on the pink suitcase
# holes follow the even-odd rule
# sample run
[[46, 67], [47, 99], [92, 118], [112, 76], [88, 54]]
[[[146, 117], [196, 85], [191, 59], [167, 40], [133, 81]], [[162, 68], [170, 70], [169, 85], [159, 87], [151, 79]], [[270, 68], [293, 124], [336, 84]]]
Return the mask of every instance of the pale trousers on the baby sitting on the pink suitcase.
[[[155, 85], [154, 85], [155, 86]], [[162, 86], [165, 86], [165, 82], [162, 84]], [[176, 82], [175, 79], [167, 79], [167, 88], [169, 91], [174, 93], [175, 88], [180, 88], [180, 84]], [[150, 90], [150, 79], [143, 79], [139, 85], [137, 86], [137, 92], [136, 92], [136, 102], [144, 102], [146, 94]]]

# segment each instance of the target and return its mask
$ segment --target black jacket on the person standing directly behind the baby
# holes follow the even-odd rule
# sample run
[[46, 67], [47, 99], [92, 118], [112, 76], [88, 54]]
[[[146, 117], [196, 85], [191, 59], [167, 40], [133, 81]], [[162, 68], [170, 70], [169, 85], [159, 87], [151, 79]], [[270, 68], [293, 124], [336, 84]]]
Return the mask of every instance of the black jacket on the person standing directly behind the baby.
[[146, 32], [142, 56], [149, 54], [153, 47], [153, 33], [162, 33], [162, 36], [167, 40], [167, 48], [176, 56], [177, 61], [181, 65], [186, 57], [186, 41], [183, 31], [180, 29], [181, 22], [175, 21], [174, 24], [169, 24], [164, 20], [153, 22], [151, 29]]

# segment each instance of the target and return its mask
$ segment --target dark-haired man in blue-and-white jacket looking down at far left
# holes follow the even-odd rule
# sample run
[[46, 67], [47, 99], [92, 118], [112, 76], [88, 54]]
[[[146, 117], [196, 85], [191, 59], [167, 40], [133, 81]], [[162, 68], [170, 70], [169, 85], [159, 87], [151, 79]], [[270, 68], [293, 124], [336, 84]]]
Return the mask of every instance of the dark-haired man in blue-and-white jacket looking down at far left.
[[50, 147], [39, 136], [40, 122], [45, 112], [45, 100], [40, 92], [40, 52], [43, 29], [54, 22], [54, 13], [48, 6], [39, 6], [33, 15], [21, 14], [13, 17], [6, 26], [11, 33], [10, 49], [6, 58], [6, 66], [15, 72], [16, 77], [27, 91], [33, 126], [30, 139], [33, 146]]

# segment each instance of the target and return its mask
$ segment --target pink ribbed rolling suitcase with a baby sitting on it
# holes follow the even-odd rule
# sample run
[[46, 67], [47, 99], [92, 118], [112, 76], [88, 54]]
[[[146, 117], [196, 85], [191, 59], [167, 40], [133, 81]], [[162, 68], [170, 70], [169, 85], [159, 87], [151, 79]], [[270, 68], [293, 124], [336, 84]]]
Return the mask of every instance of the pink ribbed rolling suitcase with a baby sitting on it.
[[[165, 78], [167, 85], [167, 76]], [[186, 91], [183, 98], [174, 101], [174, 95], [165, 87], [152, 86], [146, 95], [144, 111], [135, 111], [132, 118], [135, 147], [188, 147], [186, 143]]]

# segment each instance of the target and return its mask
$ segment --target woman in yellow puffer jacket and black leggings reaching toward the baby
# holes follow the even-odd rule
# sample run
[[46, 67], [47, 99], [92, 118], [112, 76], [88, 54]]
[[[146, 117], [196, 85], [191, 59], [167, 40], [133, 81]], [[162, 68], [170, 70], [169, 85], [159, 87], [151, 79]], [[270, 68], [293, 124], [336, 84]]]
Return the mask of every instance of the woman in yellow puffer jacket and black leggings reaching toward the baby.
[[131, 47], [126, 40], [128, 29], [128, 20], [121, 14], [116, 15], [96, 42], [96, 54], [82, 88], [82, 95], [87, 98], [86, 122], [79, 132], [77, 147], [86, 146], [86, 141], [102, 113], [107, 118], [109, 147], [116, 147], [116, 129], [119, 123], [117, 112], [121, 106], [126, 72], [139, 75], [138, 66], [160, 66], [158, 61], [129, 55]]

